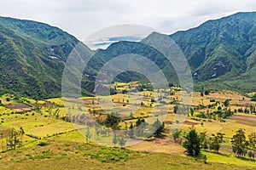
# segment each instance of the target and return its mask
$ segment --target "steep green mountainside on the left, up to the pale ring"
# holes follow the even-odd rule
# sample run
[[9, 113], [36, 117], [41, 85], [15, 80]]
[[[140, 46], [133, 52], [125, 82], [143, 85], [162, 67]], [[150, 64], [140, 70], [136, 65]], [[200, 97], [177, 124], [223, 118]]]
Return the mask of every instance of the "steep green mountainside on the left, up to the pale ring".
[[78, 42], [53, 26], [0, 17], [0, 93], [61, 96], [64, 64]]

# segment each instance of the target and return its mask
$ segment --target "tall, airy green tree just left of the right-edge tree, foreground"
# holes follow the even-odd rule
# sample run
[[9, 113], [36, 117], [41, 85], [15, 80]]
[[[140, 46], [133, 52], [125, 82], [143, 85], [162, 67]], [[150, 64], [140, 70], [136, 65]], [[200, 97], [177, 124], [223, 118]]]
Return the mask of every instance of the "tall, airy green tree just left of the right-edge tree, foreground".
[[247, 141], [243, 129], [236, 131], [236, 134], [231, 139], [232, 150], [235, 156], [246, 156], [247, 154]]

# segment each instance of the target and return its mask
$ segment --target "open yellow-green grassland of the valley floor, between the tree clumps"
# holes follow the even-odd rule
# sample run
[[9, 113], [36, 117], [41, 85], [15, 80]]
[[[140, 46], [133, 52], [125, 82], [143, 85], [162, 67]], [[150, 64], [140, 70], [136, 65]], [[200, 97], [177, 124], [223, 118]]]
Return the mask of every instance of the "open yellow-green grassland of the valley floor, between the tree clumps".
[[[137, 87], [137, 82], [119, 83], [115, 82], [117, 90], [129, 90]], [[178, 91], [176, 91], [178, 90]], [[159, 101], [149, 102], [149, 99], [158, 97], [157, 93], [150, 91], [138, 92], [132, 95], [115, 94], [112, 96], [83, 97], [81, 99], [61, 98], [36, 101], [34, 99], [20, 98], [9, 94], [3, 95], [0, 99], [0, 168], [1, 169], [255, 169], [256, 162], [247, 157], [238, 158], [231, 150], [230, 139], [239, 128], [244, 128], [246, 136], [256, 132], [256, 116], [252, 114], [236, 113], [235, 116], [224, 119], [220, 122], [207, 118], [198, 118], [201, 112], [206, 109], [195, 111], [194, 116], [185, 118], [181, 124], [181, 130], [189, 131], [189, 127], [195, 126], [198, 133], [207, 131], [207, 136], [212, 133], [224, 133], [224, 143], [219, 153], [201, 151], [207, 156], [207, 164], [196, 157], [186, 156], [181, 144], [173, 142], [169, 130], [172, 126], [178, 125], [175, 122], [180, 117], [173, 113], [174, 105], [169, 105], [173, 99], [181, 102], [180, 95], [184, 95], [179, 89], [172, 89], [174, 95], [162, 93], [166, 104]], [[113, 105], [104, 102], [113, 101]], [[142, 99], [142, 100], [140, 100]], [[210, 99], [219, 101], [218, 106], [223, 106], [225, 99], [230, 100], [231, 110], [246, 108], [247, 105], [256, 106], [249, 98], [241, 94], [224, 91], [216, 92], [207, 96], [194, 93], [192, 105], [212, 104]], [[129, 102], [127, 102], [129, 100]], [[6, 105], [19, 104], [33, 105], [35, 109], [28, 111], [8, 109]], [[84, 102], [84, 105], [79, 105]], [[143, 105], [141, 103], [143, 102]], [[150, 105], [151, 104], [151, 105]], [[103, 107], [103, 108], [102, 108]], [[208, 111], [216, 111], [216, 108]], [[90, 112], [89, 112], [90, 111]], [[156, 118], [165, 120], [165, 138], [148, 139], [138, 142], [138, 139], [128, 140], [125, 149], [107, 147], [113, 146], [113, 134], [96, 137], [96, 128], [91, 127], [90, 144], [84, 137], [86, 128], [84, 125], [67, 122], [61, 117], [67, 113], [74, 116], [82, 114], [96, 119], [106, 118], [107, 113], [118, 111], [122, 113], [123, 121], [119, 122], [121, 129], [135, 125], [138, 118], [144, 118], [148, 124], [153, 124]], [[152, 112], [154, 111], [154, 113]], [[163, 112], [167, 111], [167, 112]], [[181, 120], [181, 119], [180, 119]], [[9, 130], [22, 127], [25, 131], [23, 146], [16, 150], [6, 150]], [[77, 129], [80, 129], [77, 131]], [[83, 134], [83, 135], [82, 135]], [[99, 140], [100, 139], [100, 140]], [[136, 144], [137, 143], [137, 144]], [[99, 145], [103, 144], [103, 145]], [[105, 145], [104, 145], [105, 144]], [[119, 146], [119, 144], [118, 144]]]

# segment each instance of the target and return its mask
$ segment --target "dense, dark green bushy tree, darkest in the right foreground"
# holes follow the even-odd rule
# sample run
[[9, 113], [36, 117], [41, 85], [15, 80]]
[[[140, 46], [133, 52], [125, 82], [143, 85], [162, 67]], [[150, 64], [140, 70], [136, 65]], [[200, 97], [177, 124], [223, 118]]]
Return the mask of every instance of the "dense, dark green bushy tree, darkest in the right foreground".
[[184, 137], [183, 147], [190, 156], [199, 156], [200, 154], [200, 139], [195, 131], [195, 127], [190, 127], [189, 133]]

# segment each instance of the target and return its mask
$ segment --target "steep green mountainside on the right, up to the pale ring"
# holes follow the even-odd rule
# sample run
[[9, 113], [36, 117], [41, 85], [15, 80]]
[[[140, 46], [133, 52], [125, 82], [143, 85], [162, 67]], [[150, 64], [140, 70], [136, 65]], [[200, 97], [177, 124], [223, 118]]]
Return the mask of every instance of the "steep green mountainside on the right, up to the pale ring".
[[216, 88], [256, 91], [256, 13], [237, 13], [170, 37], [195, 79]]

